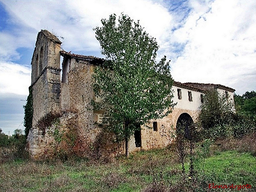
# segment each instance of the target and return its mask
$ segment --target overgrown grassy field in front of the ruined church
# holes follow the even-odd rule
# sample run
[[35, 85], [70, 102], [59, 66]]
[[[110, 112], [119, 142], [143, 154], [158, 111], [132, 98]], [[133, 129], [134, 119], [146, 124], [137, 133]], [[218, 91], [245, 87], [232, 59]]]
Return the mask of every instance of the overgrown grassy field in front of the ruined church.
[[[194, 161], [196, 173], [191, 179], [186, 174], [183, 180], [181, 164], [172, 146], [140, 151], [128, 159], [122, 156], [107, 164], [83, 159], [6, 162], [0, 165], [0, 191], [207, 191], [209, 183], [249, 184], [255, 191], [255, 156], [216, 146], [204, 161]], [[187, 173], [188, 167], [187, 159]]]

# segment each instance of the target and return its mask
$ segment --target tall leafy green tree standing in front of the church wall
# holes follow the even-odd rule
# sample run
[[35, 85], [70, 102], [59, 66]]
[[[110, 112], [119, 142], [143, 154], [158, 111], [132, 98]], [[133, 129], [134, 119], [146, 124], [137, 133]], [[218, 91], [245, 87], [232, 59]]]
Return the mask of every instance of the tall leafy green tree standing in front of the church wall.
[[172, 76], [166, 57], [156, 63], [158, 45], [127, 15], [102, 19], [103, 27], [94, 28], [101, 53], [106, 56], [102, 66], [94, 70], [94, 92], [101, 102], [94, 109], [104, 110], [102, 125], [128, 141], [142, 124], [171, 113]]

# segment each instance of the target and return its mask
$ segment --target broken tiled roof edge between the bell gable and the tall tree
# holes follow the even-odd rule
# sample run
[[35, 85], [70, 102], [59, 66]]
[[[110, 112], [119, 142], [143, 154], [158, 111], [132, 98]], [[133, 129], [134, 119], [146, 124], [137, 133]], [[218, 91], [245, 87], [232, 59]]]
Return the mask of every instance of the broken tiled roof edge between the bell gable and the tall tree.
[[98, 58], [98, 57], [94, 57], [94, 56], [85, 56], [85, 55], [74, 54], [74, 53], [71, 53], [71, 52], [66, 52], [64, 50], [60, 51], [60, 55], [63, 56], [63, 57], [89, 61], [91, 64], [95, 64], [95, 65], [99, 65], [99, 64], [102, 64], [104, 62], [104, 59], [102, 59], [102, 58]]

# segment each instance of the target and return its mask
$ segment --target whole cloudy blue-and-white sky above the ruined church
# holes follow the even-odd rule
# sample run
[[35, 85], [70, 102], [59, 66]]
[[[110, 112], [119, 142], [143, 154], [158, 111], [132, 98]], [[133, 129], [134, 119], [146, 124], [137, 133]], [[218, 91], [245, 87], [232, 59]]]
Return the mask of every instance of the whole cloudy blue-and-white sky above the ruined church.
[[121, 12], [156, 38], [175, 81], [256, 90], [255, 0], [0, 0], [0, 128], [23, 127], [36, 36], [47, 29], [77, 54], [103, 57], [92, 28]]

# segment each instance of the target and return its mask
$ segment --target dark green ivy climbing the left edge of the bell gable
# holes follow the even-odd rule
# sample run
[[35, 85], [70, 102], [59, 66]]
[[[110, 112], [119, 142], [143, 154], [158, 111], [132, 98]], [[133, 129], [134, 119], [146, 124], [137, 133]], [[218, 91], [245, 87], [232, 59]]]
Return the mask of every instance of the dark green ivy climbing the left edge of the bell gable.
[[32, 119], [33, 119], [33, 89], [31, 86], [28, 88], [29, 94], [27, 98], [26, 105], [23, 106], [25, 111], [24, 116], [24, 127], [25, 127], [25, 137], [28, 137], [29, 130], [32, 128]]

